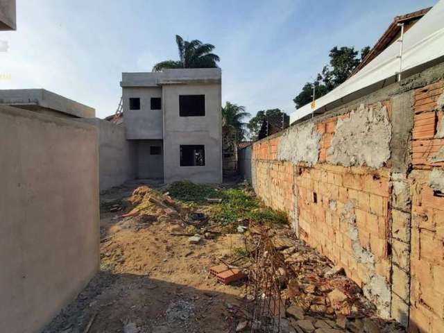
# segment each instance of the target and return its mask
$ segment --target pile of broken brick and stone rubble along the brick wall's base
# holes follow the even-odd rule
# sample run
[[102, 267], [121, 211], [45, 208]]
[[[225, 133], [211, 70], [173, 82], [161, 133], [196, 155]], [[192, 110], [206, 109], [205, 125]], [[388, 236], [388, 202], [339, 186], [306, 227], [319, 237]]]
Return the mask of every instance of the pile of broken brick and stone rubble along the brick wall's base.
[[[254, 279], [250, 281], [253, 289], [260, 289], [262, 309], [268, 304], [268, 318], [257, 318], [257, 292], [246, 293], [250, 314], [239, 321], [238, 332], [404, 332], [398, 323], [377, 318], [374, 305], [345, 276], [343, 268], [296, 239], [288, 228], [273, 230], [255, 225], [249, 231], [246, 237], [254, 261], [248, 268], [249, 276], [264, 276], [263, 265], [272, 267], [274, 275], [273, 281], [266, 277], [268, 282], [259, 285]], [[268, 237], [274, 251], [258, 250], [260, 243], [267, 243], [264, 237]], [[272, 260], [264, 259], [270, 255]], [[248, 330], [243, 331], [244, 325]]]

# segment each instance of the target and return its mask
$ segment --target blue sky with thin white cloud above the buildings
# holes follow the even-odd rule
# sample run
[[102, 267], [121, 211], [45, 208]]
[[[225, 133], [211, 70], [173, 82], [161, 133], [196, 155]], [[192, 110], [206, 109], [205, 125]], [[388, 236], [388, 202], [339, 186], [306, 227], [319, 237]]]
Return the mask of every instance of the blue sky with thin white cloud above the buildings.
[[[373, 44], [395, 15], [436, 0], [17, 0], [17, 31], [0, 32], [0, 89], [45, 88], [113, 114], [122, 71], [178, 58], [175, 35], [216, 46], [223, 103], [280, 108], [328, 61], [333, 46]], [[4, 44], [3, 44], [4, 45]]]

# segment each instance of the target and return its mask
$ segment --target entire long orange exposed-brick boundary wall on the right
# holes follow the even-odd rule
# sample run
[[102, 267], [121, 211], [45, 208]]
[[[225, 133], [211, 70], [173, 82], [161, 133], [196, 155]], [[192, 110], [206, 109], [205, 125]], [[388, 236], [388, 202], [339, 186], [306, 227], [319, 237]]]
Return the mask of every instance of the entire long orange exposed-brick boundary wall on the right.
[[[321, 135], [315, 163], [280, 160], [285, 158], [280, 143], [291, 137], [284, 133], [255, 143], [253, 186], [266, 205], [289, 214], [301, 239], [345, 268], [380, 314], [409, 325], [411, 332], [436, 333], [444, 332], [444, 197], [429, 187], [428, 177], [432, 169], [444, 169], [444, 137], [438, 135], [444, 80], [412, 87], [385, 99], [379, 94], [364, 105], [369, 119], [373, 105], [385, 106], [389, 122], [393, 112], [403, 111], [395, 113], [398, 119], [411, 114], [404, 168], [390, 157], [379, 169], [332, 164], [336, 126], [339, 119], [351, 119], [350, 111], [359, 106], [352, 105], [314, 119], [314, 132]], [[388, 298], [384, 290], [373, 293], [379, 287], [388, 290]]]

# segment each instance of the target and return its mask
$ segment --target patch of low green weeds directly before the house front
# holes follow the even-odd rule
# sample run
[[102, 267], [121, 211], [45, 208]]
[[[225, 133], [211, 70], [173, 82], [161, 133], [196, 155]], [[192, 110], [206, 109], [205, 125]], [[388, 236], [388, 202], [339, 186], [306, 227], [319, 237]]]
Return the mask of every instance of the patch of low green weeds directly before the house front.
[[198, 185], [189, 181], [173, 182], [168, 189], [171, 198], [185, 203], [203, 203], [206, 198], [220, 198], [212, 185]]

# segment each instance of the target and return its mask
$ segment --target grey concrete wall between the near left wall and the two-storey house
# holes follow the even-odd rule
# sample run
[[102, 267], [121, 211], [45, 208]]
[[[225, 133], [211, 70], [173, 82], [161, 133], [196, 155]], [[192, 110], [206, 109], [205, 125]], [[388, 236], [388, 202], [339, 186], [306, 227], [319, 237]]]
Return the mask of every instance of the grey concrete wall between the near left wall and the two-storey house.
[[137, 143], [128, 141], [123, 123], [103, 119], [78, 119], [99, 129], [100, 190], [119, 186], [137, 177]]

